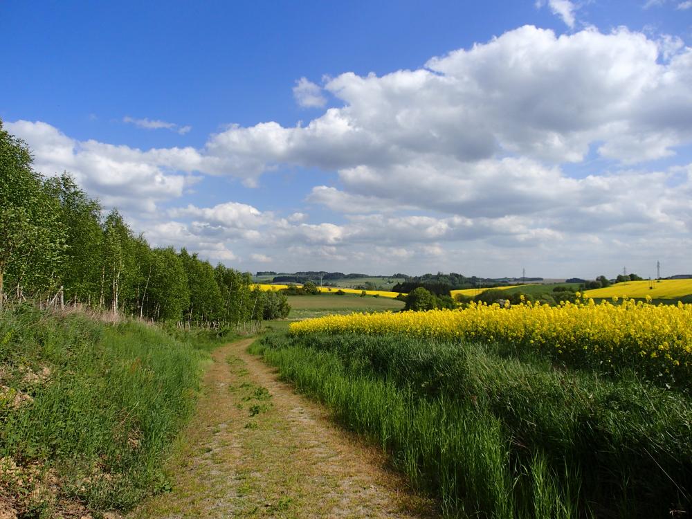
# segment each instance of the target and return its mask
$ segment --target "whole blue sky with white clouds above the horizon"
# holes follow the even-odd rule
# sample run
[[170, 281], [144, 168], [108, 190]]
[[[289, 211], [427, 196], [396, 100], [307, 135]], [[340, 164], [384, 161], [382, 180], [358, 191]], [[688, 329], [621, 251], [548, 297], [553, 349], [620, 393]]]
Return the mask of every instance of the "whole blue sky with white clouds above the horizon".
[[0, 119], [243, 271], [692, 273], [692, 0], [0, 1]]

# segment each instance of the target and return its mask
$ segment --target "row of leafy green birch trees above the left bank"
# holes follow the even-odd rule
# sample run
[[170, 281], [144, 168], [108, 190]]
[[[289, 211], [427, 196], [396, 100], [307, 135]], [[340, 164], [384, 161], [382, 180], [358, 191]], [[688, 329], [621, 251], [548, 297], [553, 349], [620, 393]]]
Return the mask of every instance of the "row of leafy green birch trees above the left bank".
[[152, 248], [113, 209], [104, 215], [68, 174], [33, 170], [28, 146], [0, 120], [0, 305], [82, 304], [193, 325], [259, 325], [290, 311], [252, 275], [183, 248]]

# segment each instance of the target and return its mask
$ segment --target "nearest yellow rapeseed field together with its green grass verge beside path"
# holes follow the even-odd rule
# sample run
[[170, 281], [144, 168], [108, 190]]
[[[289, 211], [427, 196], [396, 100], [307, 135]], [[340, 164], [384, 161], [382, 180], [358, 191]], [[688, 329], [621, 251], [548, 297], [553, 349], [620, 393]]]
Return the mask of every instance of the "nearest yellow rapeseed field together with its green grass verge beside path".
[[446, 513], [650, 518], [691, 505], [691, 318], [472, 304], [303, 320], [253, 348]]

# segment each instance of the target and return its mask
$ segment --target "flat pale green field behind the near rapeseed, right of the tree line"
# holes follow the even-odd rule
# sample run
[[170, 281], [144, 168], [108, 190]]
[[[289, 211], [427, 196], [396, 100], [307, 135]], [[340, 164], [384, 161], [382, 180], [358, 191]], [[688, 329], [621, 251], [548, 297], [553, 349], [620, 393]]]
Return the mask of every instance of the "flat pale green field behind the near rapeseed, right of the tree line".
[[289, 319], [321, 317], [333, 313], [398, 311], [403, 309], [403, 302], [392, 298], [375, 298], [368, 295], [361, 298], [356, 294], [336, 295], [320, 293], [319, 295], [289, 295], [291, 313]]

